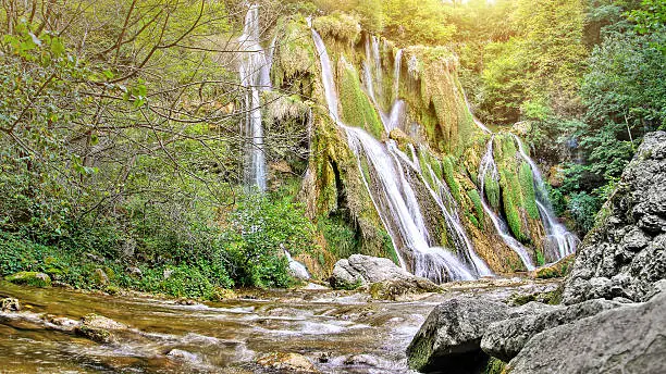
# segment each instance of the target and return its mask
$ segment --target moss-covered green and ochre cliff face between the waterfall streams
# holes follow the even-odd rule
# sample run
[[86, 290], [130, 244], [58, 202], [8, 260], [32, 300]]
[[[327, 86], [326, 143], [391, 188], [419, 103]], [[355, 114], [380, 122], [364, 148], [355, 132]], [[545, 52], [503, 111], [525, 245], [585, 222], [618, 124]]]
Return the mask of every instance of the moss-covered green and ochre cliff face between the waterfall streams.
[[[493, 272], [525, 270], [484, 212], [482, 201], [489, 201], [493, 214], [507, 222], [509, 235], [526, 246], [531, 261], [542, 262], [545, 230], [533, 202], [534, 180], [509, 134], [492, 140], [498, 174], [480, 192], [479, 165], [491, 135], [474, 124], [467, 108], [455, 54], [443, 47], [398, 49], [344, 15], [314, 18], [312, 26], [331, 57], [340, 120], [379, 141], [395, 140], [396, 152], [408, 157], [400, 161], [406, 163], [400, 173], [419, 201], [429, 245], [458, 252], [464, 240], [452, 227], [454, 220]], [[270, 123], [275, 129], [300, 126], [308, 134], [309, 158], [299, 198], [322, 234], [326, 252], [318, 260], [301, 260], [317, 262], [322, 276], [330, 274], [333, 260], [353, 253], [398, 263], [406, 240], [395, 235], [399, 227], [379, 212], [390, 208], [381, 201], [377, 171], [371, 162], [359, 159], [349, 147], [348, 134], [329, 115], [320, 57], [306, 20], [300, 15], [281, 20], [273, 33], [279, 40], [273, 52], [273, 86], [289, 96], [287, 101], [275, 101], [282, 104], [273, 105]], [[279, 183], [275, 179], [272, 184]], [[433, 196], [432, 191], [439, 194], [442, 188], [452, 201]], [[445, 219], [442, 209], [452, 216]], [[408, 259], [407, 266], [414, 266], [414, 261]]]

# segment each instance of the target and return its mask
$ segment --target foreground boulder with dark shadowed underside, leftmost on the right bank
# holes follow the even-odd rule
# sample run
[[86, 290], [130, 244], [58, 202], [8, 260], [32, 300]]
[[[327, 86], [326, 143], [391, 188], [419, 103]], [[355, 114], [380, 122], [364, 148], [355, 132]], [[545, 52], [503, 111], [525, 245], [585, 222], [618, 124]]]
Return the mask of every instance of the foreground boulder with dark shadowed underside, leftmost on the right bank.
[[420, 372], [479, 373], [488, 361], [480, 342], [492, 322], [506, 319], [501, 302], [454, 298], [433, 309], [407, 347], [409, 367]]

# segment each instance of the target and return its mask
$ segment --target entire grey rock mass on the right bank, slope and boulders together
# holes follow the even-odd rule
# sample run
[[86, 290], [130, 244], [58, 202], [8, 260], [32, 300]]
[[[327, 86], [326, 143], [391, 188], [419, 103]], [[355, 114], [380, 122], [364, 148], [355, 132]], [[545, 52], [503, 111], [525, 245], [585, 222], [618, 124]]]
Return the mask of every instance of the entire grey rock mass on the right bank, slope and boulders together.
[[409, 345], [409, 366], [442, 373], [666, 373], [666, 133], [645, 136], [596, 220], [560, 297], [552, 298], [562, 304], [447, 300]]

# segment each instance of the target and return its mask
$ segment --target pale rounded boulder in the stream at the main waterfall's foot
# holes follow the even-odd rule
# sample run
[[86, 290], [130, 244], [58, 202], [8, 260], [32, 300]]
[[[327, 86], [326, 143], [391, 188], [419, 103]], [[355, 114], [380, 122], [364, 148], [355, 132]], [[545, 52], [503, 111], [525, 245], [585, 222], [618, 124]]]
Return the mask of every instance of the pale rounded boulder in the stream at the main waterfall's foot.
[[410, 278], [409, 274], [388, 259], [351, 254], [335, 263], [331, 285], [334, 287], [365, 286], [388, 279]]

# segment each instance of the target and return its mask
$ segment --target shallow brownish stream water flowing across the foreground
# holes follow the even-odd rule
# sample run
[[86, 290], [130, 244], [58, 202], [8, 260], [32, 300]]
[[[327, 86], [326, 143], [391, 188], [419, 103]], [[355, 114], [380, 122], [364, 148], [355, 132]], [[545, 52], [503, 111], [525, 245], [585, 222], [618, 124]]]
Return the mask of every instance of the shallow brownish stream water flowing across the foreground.
[[[447, 285], [447, 291], [419, 301], [301, 289], [250, 291], [246, 298], [194, 306], [0, 283], [0, 296], [24, 306], [20, 313], [0, 313], [0, 372], [270, 373], [254, 363], [258, 357], [297, 352], [323, 373], [407, 373], [405, 349], [442, 300], [462, 294], [504, 300], [555, 287], [496, 282]], [[49, 327], [42, 313], [73, 320], [97, 313], [130, 328], [114, 333], [115, 342], [100, 345]], [[166, 356], [172, 349], [192, 354], [172, 359]], [[318, 360], [322, 352], [330, 354], [325, 363]], [[372, 362], [345, 364], [353, 354], [368, 354]]]

